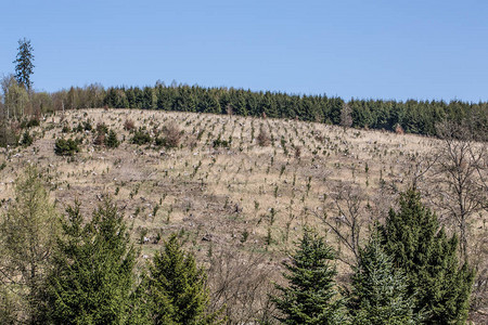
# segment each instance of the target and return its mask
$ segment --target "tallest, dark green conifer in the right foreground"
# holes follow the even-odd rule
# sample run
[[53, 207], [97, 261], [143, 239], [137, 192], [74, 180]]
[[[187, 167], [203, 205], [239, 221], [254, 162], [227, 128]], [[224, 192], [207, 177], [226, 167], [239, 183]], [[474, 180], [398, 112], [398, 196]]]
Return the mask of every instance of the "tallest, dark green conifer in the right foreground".
[[428, 324], [463, 324], [474, 272], [459, 264], [457, 236], [447, 237], [414, 190], [401, 195], [400, 210], [390, 210], [381, 229], [386, 252], [408, 276], [414, 311], [424, 309]]

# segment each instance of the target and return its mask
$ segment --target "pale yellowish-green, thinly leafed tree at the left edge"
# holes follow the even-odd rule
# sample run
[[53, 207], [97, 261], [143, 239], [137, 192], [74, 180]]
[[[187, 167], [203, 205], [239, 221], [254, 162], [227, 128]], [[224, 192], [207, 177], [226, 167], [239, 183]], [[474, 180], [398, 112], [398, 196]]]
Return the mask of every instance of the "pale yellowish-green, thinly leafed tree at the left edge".
[[16, 311], [17, 322], [36, 322], [41, 304], [38, 291], [50, 265], [57, 231], [54, 204], [38, 170], [29, 167], [17, 179], [15, 200], [0, 223], [0, 291], [8, 294], [0, 303]]

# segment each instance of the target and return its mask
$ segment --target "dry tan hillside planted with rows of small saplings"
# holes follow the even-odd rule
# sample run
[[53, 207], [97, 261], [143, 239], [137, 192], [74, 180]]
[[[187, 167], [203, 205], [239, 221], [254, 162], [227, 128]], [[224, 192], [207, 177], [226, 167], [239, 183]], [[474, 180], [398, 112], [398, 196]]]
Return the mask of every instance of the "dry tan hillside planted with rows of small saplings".
[[[74, 131], [85, 121], [93, 130], [101, 123], [115, 130], [120, 146], [95, 145], [94, 131]], [[174, 123], [182, 133], [180, 145], [132, 144], [133, 134], [124, 128], [127, 121], [150, 134]], [[440, 140], [412, 134], [138, 109], [57, 113], [30, 133], [30, 146], [1, 152], [3, 208], [16, 176], [35, 164], [48, 177], [60, 211], [79, 200], [89, 216], [103, 195], [113, 196], [133, 225], [143, 258], [159, 248], [160, 238], [180, 232], [201, 262], [210, 263], [209, 257], [222, 251], [242, 259], [259, 255], [268, 280], [279, 278], [280, 262], [307, 224], [329, 233], [342, 259], [350, 261], [351, 252], [323, 219], [347, 231], [341, 222], [356, 213], [362, 238], [368, 225], [394, 206], [398, 192], [421, 174], [426, 157], [441, 147]], [[55, 155], [59, 138], [81, 138], [80, 152]], [[427, 191], [425, 186], [419, 184]], [[345, 278], [347, 263], [339, 270]]]

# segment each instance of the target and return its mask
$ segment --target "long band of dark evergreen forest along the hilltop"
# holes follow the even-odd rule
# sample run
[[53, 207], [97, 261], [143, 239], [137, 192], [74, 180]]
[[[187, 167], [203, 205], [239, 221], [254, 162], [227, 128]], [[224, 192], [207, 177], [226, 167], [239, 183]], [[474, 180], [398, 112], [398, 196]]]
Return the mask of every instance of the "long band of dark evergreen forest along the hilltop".
[[[4, 82], [5, 83], [5, 82]], [[8, 83], [8, 82], [7, 82]], [[4, 87], [4, 110], [15, 112], [20, 103], [17, 89]], [[12, 84], [15, 88], [14, 84]], [[27, 102], [27, 98], [24, 102]], [[170, 86], [111, 87], [90, 84], [54, 93], [39, 92], [30, 96], [34, 112], [74, 108], [111, 107], [164, 109], [193, 113], [235, 114], [293, 118], [345, 127], [438, 135], [439, 121], [468, 122], [474, 133], [486, 134], [488, 104], [462, 101], [357, 100], [346, 102], [338, 96], [297, 95], [282, 92], [251, 91], [234, 88]], [[12, 106], [10, 109], [7, 109]], [[25, 106], [25, 105], [24, 105]], [[24, 110], [24, 108], [22, 108]], [[483, 132], [481, 132], [483, 131]]]

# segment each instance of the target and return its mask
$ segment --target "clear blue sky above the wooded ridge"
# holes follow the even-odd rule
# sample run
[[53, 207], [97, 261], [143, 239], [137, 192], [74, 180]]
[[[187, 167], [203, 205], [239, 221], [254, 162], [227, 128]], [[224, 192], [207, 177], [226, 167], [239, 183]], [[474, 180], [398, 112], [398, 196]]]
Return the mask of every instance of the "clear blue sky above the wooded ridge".
[[37, 90], [160, 79], [345, 99], [488, 100], [488, 1], [3, 0]]

